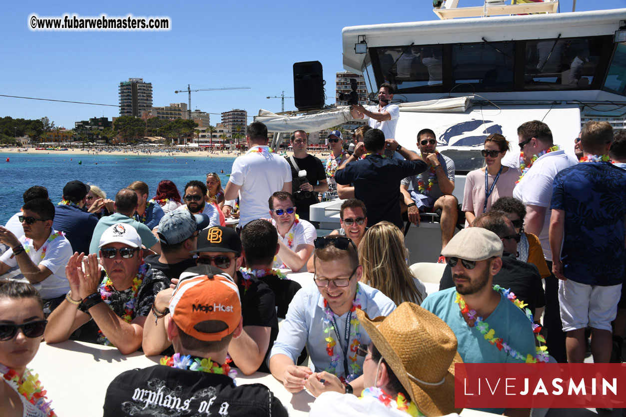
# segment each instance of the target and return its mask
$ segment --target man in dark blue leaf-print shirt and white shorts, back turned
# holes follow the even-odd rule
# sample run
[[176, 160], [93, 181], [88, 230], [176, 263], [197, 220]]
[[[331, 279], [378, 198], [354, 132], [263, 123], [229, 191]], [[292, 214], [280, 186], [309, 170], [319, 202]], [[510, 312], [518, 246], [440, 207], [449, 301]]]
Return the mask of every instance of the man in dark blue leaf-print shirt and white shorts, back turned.
[[624, 280], [626, 171], [608, 162], [613, 128], [606, 121], [583, 127], [581, 163], [557, 174], [552, 185], [550, 249], [560, 279], [568, 363], [585, 359], [585, 329], [592, 328], [594, 363], [608, 363], [611, 322]]

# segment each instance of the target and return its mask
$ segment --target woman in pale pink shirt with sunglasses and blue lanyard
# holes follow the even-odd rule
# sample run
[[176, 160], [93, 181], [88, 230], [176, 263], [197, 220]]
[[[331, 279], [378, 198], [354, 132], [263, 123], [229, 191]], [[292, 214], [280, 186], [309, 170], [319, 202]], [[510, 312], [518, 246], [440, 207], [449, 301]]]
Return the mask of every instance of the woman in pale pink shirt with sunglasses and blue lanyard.
[[502, 165], [507, 150], [510, 150], [509, 143], [500, 133], [491, 133], [485, 139], [485, 149], [481, 151], [485, 157], [485, 167], [468, 173], [465, 180], [462, 207], [465, 227], [470, 227], [476, 216], [490, 210], [491, 202], [513, 195], [515, 182], [520, 179], [521, 172]]

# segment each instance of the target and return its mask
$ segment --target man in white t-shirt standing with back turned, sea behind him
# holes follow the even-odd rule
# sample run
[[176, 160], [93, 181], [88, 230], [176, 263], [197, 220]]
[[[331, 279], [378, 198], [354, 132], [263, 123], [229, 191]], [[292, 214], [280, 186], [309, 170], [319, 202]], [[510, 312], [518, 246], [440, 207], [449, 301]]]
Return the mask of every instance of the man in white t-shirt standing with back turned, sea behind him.
[[[224, 191], [225, 200], [235, 200], [240, 193], [240, 228], [267, 216], [267, 200], [273, 193], [291, 191], [291, 167], [267, 146], [267, 127], [260, 121], [250, 123], [245, 139], [249, 150], [233, 162]], [[231, 210], [225, 204], [222, 211], [229, 215]]]

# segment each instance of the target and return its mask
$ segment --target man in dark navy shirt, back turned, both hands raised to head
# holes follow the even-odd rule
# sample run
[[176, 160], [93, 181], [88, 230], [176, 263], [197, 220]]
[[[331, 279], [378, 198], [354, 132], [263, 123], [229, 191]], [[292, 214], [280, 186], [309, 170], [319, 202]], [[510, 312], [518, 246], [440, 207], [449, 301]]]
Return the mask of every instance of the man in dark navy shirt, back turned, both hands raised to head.
[[[406, 160], [384, 157], [385, 148], [400, 153]], [[359, 160], [364, 153], [366, 158]], [[394, 139], [385, 140], [381, 130], [370, 129], [346, 163], [337, 168], [335, 181], [354, 184], [354, 197], [365, 203], [370, 226], [387, 220], [402, 229], [400, 181], [424, 172], [427, 167], [417, 153], [404, 149]]]

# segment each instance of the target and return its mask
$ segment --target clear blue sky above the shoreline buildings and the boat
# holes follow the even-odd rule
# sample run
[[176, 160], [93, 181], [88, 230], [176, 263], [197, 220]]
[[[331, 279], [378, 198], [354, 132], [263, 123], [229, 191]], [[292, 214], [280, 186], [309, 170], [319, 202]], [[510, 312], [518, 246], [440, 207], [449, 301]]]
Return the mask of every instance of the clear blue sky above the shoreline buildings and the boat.
[[[480, 0], [461, 0], [478, 6]], [[389, 7], [393, 5], [393, 7]], [[626, 0], [578, 0], [577, 11], [626, 8]], [[376, 13], [380, 9], [380, 13]], [[382, 11], [384, 9], [384, 11]], [[572, 0], [560, 3], [572, 10]], [[38, 31], [28, 16], [168, 16], [172, 29], [155, 31]], [[192, 93], [192, 108], [222, 113], [243, 108], [280, 111], [293, 95], [292, 65], [321, 61], [327, 103], [334, 103], [334, 73], [343, 71], [341, 29], [359, 24], [435, 20], [431, 0], [368, 1], [30, 1], [4, 4], [0, 17], [3, 69], [0, 94], [118, 103], [118, 85], [140, 77], [153, 85], [153, 105], [187, 102], [175, 90], [249, 86], [250, 90]], [[285, 99], [285, 110], [294, 110]], [[115, 107], [0, 97], [0, 117], [48, 116], [68, 129], [74, 121], [118, 116]], [[249, 119], [251, 121], [251, 119]], [[211, 115], [212, 125], [220, 116]]]

